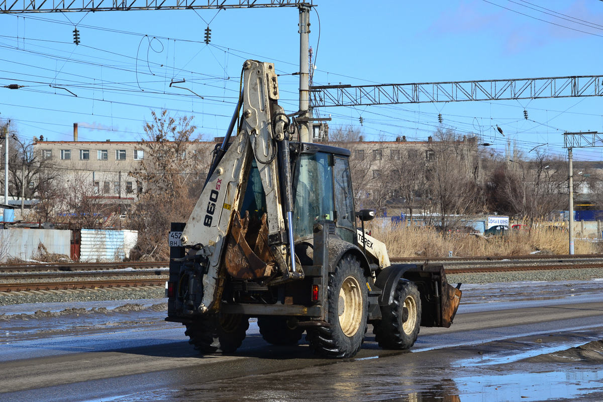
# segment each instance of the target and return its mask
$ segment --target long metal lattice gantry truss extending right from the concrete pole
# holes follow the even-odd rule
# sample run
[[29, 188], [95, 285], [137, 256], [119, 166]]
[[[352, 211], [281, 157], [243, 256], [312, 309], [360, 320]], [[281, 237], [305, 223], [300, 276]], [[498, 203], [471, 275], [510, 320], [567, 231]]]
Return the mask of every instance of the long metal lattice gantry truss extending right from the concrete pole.
[[314, 107], [603, 96], [603, 75], [311, 87]]

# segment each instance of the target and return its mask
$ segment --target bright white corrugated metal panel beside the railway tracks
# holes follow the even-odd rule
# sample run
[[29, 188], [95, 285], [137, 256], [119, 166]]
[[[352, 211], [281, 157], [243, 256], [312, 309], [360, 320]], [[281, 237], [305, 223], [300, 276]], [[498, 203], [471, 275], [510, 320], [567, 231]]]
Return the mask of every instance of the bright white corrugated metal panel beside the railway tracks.
[[124, 231], [81, 230], [81, 262], [119, 261], [124, 257]]

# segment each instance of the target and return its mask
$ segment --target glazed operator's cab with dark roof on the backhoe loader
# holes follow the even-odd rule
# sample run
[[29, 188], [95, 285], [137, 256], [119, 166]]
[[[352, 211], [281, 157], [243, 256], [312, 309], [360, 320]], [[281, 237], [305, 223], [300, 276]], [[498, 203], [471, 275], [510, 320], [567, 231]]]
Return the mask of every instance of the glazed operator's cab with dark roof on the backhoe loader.
[[335, 234], [355, 244], [350, 151], [317, 143], [291, 145], [295, 242], [309, 240], [318, 221], [333, 221]]

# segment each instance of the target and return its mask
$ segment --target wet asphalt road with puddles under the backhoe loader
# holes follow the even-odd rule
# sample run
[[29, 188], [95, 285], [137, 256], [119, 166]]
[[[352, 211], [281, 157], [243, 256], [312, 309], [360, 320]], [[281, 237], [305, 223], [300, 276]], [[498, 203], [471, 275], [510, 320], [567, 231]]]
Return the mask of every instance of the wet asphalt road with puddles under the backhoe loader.
[[[268, 345], [254, 322], [236, 354], [204, 357], [188, 344], [184, 328], [163, 322], [163, 316], [161, 311], [124, 315], [102, 325], [82, 316], [80, 324], [66, 320], [62, 328], [46, 333], [40, 328], [25, 330], [28, 322], [20, 322], [20, 327], [12, 323], [9, 331], [0, 322], [0, 330], [7, 329], [0, 346], [0, 400], [515, 400], [525, 397], [511, 392], [517, 378], [498, 374], [493, 384], [511, 385], [494, 399], [482, 398], [483, 389], [475, 391], [487, 378], [483, 383], [475, 381], [475, 386], [473, 380], [496, 371], [535, 375], [545, 366], [546, 372], [567, 374], [576, 371], [578, 363], [572, 368], [544, 363], [526, 368], [535, 363], [522, 362], [526, 357], [603, 339], [603, 296], [592, 294], [513, 304], [466, 304], [451, 328], [421, 328], [417, 343], [405, 352], [380, 350], [369, 328], [364, 347], [349, 360], [317, 359], [305, 344]], [[14, 331], [21, 331], [22, 336], [10, 336]], [[506, 366], [500, 369], [501, 365]], [[603, 378], [603, 372], [585, 367], [586, 377]], [[537, 384], [543, 381], [532, 379]], [[567, 379], [559, 382], [567, 383]], [[603, 385], [593, 384], [593, 389]], [[584, 390], [572, 391], [570, 385], [552, 397], [566, 395], [570, 400], [584, 394]], [[494, 390], [491, 386], [488, 391]], [[541, 398], [541, 392], [550, 392], [550, 386], [540, 394], [534, 394], [534, 389], [529, 394], [527, 388], [525, 393], [532, 396], [526, 400], [548, 400]], [[592, 400], [601, 400], [600, 391], [589, 392]]]

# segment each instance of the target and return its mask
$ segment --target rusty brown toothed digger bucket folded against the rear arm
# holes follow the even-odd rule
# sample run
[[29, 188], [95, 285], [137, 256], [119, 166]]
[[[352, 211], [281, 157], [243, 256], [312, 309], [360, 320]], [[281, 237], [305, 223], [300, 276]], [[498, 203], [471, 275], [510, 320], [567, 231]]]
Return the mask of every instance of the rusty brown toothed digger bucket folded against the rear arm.
[[269, 277], [275, 262], [268, 248], [267, 216], [262, 219], [249, 218], [245, 211], [244, 218], [235, 211], [224, 265], [228, 273], [237, 279], [260, 279]]

